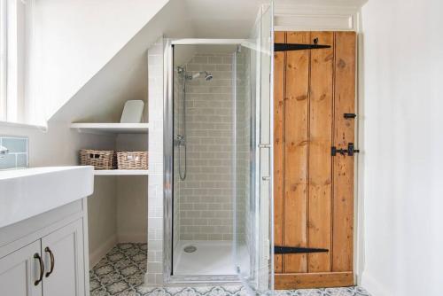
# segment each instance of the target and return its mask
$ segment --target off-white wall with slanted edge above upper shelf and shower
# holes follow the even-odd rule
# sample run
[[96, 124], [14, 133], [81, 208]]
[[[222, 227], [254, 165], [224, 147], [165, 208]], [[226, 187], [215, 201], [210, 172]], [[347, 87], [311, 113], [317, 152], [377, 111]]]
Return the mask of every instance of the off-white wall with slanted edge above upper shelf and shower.
[[261, 1], [170, 0], [51, 117], [51, 121], [120, 121], [128, 99], [147, 98], [146, 51], [159, 36], [245, 38]]

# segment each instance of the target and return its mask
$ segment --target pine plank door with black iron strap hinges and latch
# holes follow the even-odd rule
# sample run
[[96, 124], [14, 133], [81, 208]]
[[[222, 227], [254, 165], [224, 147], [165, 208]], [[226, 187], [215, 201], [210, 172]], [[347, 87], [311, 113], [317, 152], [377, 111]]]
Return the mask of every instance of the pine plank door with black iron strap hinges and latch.
[[275, 245], [326, 249], [275, 255], [276, 289], [354, 284], [354, 32], [276, 32], [276, 43], [329, 44], [277, 51], [274, 69]]

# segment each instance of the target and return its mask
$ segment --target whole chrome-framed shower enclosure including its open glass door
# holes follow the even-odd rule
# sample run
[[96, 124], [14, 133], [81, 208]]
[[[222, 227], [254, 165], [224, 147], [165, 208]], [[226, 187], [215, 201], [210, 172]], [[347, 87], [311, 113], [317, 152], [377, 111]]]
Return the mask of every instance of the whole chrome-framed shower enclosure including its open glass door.
[[246, 40], [170, 40], [167, 283], [272, 286], [272, 8]]

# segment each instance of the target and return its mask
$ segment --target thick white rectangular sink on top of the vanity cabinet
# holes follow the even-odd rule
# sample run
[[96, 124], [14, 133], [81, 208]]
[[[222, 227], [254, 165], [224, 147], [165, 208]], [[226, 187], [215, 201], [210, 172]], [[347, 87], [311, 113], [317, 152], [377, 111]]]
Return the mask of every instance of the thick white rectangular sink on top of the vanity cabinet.
[[0, 171], [0, 228], [94, 191], [94, 167], [33, 167]]

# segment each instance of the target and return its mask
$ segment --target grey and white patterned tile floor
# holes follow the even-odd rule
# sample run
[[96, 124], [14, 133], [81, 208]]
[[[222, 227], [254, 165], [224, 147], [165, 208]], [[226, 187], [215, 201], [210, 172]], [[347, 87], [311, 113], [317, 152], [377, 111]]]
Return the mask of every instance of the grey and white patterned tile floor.
[[[246, 296], [241, 285], [214, 287], [148, 288], [146, 244], [119, 244], [90, 270], [90, 296]], [[360, 287], [285, 290], [277, 296], [369, 296]]]

